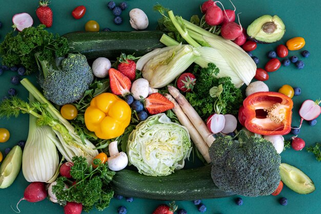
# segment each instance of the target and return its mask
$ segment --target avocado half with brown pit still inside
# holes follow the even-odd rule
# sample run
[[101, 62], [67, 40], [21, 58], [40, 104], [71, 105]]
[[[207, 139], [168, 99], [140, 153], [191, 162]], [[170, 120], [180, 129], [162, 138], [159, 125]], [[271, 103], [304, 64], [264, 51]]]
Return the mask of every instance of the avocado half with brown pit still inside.
[[269, 44], [279, 41], [285, 33], [285, 25], [277, 16], [263, 15], [254, 20], [247, 28], [249, 40]]

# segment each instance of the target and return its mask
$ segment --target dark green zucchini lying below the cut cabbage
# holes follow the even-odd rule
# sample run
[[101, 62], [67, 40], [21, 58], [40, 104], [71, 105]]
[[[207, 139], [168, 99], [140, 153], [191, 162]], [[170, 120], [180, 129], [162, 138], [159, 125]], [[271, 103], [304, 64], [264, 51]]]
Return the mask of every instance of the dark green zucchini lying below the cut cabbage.
[[123, 169], [116, 172], [111, 187], [125, 197], [162, 201], [191, 201], [233, 196], [218, 189], [211, 178], [211, 166], [177, 170], [169, 176], [152, 177]]

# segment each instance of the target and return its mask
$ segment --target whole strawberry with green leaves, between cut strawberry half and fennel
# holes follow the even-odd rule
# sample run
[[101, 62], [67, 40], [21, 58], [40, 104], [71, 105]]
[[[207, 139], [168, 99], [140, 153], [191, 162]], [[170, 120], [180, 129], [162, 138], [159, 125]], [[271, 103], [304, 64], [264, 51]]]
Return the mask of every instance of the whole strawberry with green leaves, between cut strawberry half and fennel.
[[131, 81], [136, 79], [136, 63], [133, 61], [135, 59], [137, 58], [133, 55], [126, 56], [125, 53], [122, 53], [121, 57], [118, 58], [118, 71], [121, 71]]

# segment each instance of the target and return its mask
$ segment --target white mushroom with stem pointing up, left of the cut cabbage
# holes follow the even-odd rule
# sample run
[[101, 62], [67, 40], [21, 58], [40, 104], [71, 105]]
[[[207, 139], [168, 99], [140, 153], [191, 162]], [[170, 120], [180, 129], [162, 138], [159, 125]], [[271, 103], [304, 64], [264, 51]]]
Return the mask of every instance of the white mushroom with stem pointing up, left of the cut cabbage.
[[111, 142], [108, 146], [110, 158], [107, 159], [108, 168], [113, 171], [124, 169], [128, 164], [127, 154], [118, 152], [117, 141]]

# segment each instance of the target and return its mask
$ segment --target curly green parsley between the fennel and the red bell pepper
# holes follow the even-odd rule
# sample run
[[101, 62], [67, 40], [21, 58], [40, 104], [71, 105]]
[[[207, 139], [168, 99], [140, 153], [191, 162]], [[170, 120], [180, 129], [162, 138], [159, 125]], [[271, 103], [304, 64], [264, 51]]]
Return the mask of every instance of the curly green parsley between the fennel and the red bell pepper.
[[233, 85], [230, 77], [215, 77], [218, 72], [213, 63], [207, 68], [195, 65], [196, 84], [192, 92], [186, 93], [186, 99], [204, 120], [214, 112], [236, 115], [243, 103], [240, 89]]

